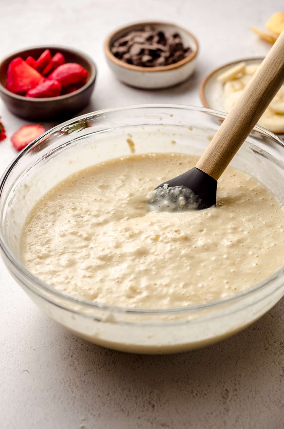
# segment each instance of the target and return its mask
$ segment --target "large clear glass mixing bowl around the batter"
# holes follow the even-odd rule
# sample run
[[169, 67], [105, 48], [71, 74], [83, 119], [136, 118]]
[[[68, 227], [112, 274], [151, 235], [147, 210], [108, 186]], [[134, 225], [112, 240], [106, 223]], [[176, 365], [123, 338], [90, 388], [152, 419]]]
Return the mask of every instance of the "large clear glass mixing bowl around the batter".
[[[48, 130], [15, 158], [0, 183], [0, 246], [10, 273], [39, 308], [76, 335], [96, 344], [129, 352], [173, 353], [233, 335], [278, 302], [284, 295], [284, 268], [226, 299], [184, 308], [147, 310], [102, 305], [70, 296], [36, 278], [21, 263], [21, 230], [27, 215], [59, 181], [94, 163], [129, 154], [129, 134], [136, 154], [200, 155], [225, 116], [179, 105], [106, 109]], [[231, 164], [266, 184], [284, 204], [281, 139], [255, 127]]]

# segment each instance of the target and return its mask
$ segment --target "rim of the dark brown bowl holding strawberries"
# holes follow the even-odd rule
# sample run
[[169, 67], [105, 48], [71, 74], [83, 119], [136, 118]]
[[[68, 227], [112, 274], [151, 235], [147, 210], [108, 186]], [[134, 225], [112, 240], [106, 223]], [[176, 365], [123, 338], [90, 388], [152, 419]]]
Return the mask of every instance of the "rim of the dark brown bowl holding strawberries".
[[91, 57], [89, 57], [88, 55], [84, 54], [82, 51], [79, 51], [79, 49], [73, 49], [73, 48], [69, 48], [68, 46], [62, 46], [62, 45], [46, 45], [47, 47], [43, 47], [42, 45], [36, 45], [36, 46], [28, 46], [27, 48], [21, 49], [20, 51], [15, 51], [12, 52], [12, 54], [6, 55], [6, 57], [2, 58], [0, 61], [0, 65], [6, 61], [9, 57], [17, 57], [17, 56], [21, 56], [21, 52], [24, 51], [28, 51], [30, 49], [57, 49], [58, 51], [60, 49], [64, 49], [65, 51], [70, 51], [73, 52], [74, 54], [77, 55], [81, 55], [81, 57], [83, 57], [86, 62], [88, 62], [90, 64], [91, 67], [91, 74], [90, 77], [88, 79], [88, 81], [85, 83], [85, 85], [83, 85], [81, 88], [77, 89], [76, 91], [71, 92], [70, 94], [65, 94], [65, 95], [58, 95], [57, 97], [43, 97], [43, 98], [36, 98], [36, 97], [24, 97], [23, 95], [18, 95], [18, 94], [14, 94], [11, 91], [8, 91], [1, 83], [0, 83], [0, 91], [3, 91], [4, 94], [9, 95], [10, 97], [14, 97], [17, 100], [28, 100], [32, 103], [36, 102], [36, 101], [50, 101], [50, 100], [62, 100], [62, 99], [66, 99], [68, 97], [72, 97], [72, 95], [74, 94], [78, 94], [79, 92], [85, 91], [86, 88], [88, 88], [96, 79], [97, 76], [97, 67], [96, 64], [94, 63], [94, 61], [91, 59]]

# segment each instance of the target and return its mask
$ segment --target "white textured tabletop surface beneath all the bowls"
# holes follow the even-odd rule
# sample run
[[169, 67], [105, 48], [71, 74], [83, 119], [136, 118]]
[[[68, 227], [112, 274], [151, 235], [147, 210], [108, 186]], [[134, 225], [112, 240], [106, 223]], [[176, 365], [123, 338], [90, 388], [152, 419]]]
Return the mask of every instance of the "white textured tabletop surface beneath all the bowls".
[[[134, 10], [135, 4], [135, 10]], [[1, 56], [34, 44], [62, 44], [99, 68], [85, 112], [134, 103], [200, 105], [198, 84], [215, 67], [264, 55], [262, 27], [283, 2], [246, 0], [0, 0]], [[117, 82], [102, 43], [124, 23], [156, 19], [188, 27], [200, 42], [198, 70], [183, 85], [140, 91]], [[25, 122], [0, 102], [8, 136]], [[0, 171], [15, 156], [0, 143]], [[118, 353], [89, 344], [42, 314], [0, 261], [1, 429], [280, 429], [284, 421], [284, 302], [221, 344], [172, 356]]]

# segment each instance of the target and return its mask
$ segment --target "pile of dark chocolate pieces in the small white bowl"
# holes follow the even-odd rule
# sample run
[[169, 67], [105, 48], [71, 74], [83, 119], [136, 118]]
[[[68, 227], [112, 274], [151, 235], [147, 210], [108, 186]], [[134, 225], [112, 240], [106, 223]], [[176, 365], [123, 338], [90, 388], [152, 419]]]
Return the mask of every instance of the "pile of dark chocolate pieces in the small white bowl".
[[161, 30], [145, 25], [115, 40], [112, 54], [124, 63], [142, 67], [168, 66], [188, 57], [192, 49], [185, 48], [179, 33], [167, 36]]

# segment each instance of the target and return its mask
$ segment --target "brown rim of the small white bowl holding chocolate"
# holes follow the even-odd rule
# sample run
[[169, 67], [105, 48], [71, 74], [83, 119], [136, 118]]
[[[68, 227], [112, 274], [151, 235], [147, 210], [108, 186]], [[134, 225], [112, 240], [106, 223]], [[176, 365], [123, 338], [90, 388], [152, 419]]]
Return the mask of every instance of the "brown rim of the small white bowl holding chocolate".
[[[130, 30], [131, 28], [136, 27], [137, 25], [168, 25], [168, 26], [175, 27], [178, 30], [184, 31], [190, 37], [192, 37], [192, 39], [196, 43], [196, 50], [192, 51], [191, 54], [188, 57], [184, 58], [183, 60], [180, 60], [174, 64], [169, 64], [168, 66], [141, 67], [141, 66], [133, 66], [132, 64], [124, 63], [123, 61], [118, 60], [118, 58], [112, 54], [112, 52], [110, 50], [110, 41], [113, 39], [113, 37], [115, 37], [115, 35], [117, 33], [120, 33], [121, 31], [127, 32], [127, 30]], [[133, 71], [136, 70], [137, 72], [147, 72], [147, 73], [148, 72], [151, 72], [151, 73], [152, 72], [166, 72], [167, 70], [178, 69], [179, 67], [182, 67], [182, 66], [184, 66], [184, 64], [187, 64], [191, 60], [193, 60], [193, 58], [195, 58], [197, 53], [198, 53], [198, 49], [199, 49], [198, 42], [192, 33], [190, 33], [188, 30], [185, 30], [183, 27], [180, 27], [179, 25], [173, 24], [172, 22], [164, 22], [164, 21], [135, 22], [133, 24], [126, 25], [125, 27], [120, 27], [117, 30], [113, 31], [111, 34], [109, 34], [109, 36], [107, 36], [107, 38], [104, 42], [104, 51], [105, 51], [106, 56], [109, 58], [109, 60], [111, 60], [117, 66], [123, 67], [124, 69], [129, 69], [129, 70], [133, 70]]]

